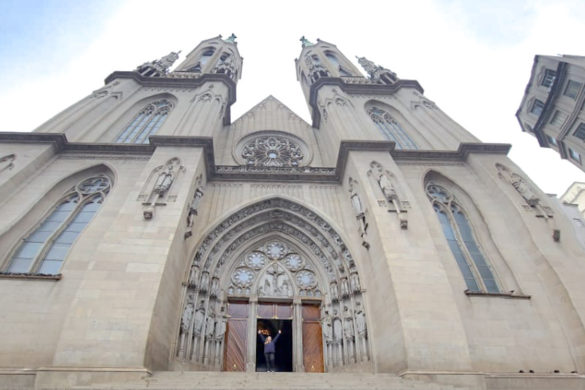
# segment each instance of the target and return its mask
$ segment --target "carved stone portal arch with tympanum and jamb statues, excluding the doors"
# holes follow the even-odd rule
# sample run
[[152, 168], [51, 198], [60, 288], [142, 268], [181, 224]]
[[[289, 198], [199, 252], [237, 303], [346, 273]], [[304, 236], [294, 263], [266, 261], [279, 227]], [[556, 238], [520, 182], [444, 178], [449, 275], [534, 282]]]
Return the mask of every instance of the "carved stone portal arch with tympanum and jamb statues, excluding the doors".
[[[369, 359], [365, 311], [358, 305], [364, 290], [351, 253], [330, 224], [299, 204], [273, 198], [232, 214], [200, 242], [188, 271], [178, 321], [179, 359], [221, 367], [225, 316], [218, 313], [230, 296], [319, 299], [322, 308], [330, 307], [328, 313], [348, 307], [355, 313], [351, 329], [346, 313], [324, 316], [326, 364]], [[193, 302], [201, 303], [191, 314]], [[190, 316], [187, 326], [183, 318]]]

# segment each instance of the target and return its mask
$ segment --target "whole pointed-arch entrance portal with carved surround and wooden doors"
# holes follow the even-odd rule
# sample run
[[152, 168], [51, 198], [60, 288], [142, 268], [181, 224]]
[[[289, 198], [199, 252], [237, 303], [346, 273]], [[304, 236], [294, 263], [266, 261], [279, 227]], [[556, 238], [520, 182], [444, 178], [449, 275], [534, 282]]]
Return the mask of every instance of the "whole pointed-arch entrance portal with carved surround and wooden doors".
[[183, 286], [183, 367], [261, 369], [258, 330], [277, 328], [290, 332], [277, 355], [292, 371], [369, 360], [353, 257], [329, 223], [297, 203], [268, 199], [232, 214], [202, 240]]

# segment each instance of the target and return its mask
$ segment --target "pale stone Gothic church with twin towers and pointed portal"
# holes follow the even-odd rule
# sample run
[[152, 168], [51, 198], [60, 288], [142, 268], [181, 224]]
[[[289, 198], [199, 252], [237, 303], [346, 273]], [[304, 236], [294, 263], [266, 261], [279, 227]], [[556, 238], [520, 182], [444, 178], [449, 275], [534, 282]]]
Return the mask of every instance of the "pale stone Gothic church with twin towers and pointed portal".
[[510, 146], [301, 41], [311, 123], [231, 118], [232, 35], [0, 133], [0, 388], [585, 387], [585, 253]]

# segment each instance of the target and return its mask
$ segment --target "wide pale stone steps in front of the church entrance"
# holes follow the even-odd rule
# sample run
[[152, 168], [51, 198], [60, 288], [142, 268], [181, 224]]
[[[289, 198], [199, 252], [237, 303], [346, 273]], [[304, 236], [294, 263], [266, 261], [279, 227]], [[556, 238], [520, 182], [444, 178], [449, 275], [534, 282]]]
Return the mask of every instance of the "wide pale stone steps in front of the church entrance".
[[469, 390], [466, 387], [403, 379], [393, 374], [367, 373], [235, 373], [160, 371], [141, 381], [100, 384], [75, 389], [92, 390]]

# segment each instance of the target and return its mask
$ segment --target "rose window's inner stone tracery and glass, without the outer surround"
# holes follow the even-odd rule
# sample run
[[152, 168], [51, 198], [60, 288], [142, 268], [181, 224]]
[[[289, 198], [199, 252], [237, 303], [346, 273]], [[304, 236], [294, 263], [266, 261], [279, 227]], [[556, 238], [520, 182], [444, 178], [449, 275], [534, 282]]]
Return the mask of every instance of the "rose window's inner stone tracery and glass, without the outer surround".
[[298, 167], [305, 152], [298, 142], [283, 135], [255, 137], [241, 151], [246, 165], [261, 167]]

